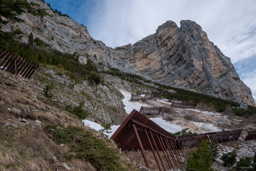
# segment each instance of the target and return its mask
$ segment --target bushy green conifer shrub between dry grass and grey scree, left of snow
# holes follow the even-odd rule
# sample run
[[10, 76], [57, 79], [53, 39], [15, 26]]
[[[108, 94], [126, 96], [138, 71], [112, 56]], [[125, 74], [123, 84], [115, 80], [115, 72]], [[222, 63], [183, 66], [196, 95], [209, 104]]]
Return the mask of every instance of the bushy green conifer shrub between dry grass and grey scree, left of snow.
[[86, 117], [89, 116], [91, 113], [88, 113], [88, 111], [83, 109], [84, 105], [85, 101], [81, 101], [79, 103], [79, 106], [71, 107], [71, 105], [68, 105], [65, 109], [73, 115], [79, 117], [80, 119], [86, 119]]

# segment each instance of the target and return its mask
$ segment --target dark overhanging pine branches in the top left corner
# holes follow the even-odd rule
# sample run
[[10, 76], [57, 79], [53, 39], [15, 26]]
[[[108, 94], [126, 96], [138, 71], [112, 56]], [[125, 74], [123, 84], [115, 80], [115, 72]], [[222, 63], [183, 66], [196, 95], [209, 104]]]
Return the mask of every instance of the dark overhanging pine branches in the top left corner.
[[[2, 0], [0, 3], [0, 10], [0, 24], [2, 25], [6, 25], [10, 21], [24, 22], [23, 19], [18, 18], [18, 15], [26, 12], [40, 17], [43, 17], [44, 15], [52, 17], [52, 15], [47, 13], [45, 9], [41, 9], [38, 3], [29, 3], [24, 0]], [[7, 21], [4, 18], [6, 18]], [[0, 26], [0, 42], [6, 42], [12, 38], [13, 34], [2, 31], [2, 26]]]

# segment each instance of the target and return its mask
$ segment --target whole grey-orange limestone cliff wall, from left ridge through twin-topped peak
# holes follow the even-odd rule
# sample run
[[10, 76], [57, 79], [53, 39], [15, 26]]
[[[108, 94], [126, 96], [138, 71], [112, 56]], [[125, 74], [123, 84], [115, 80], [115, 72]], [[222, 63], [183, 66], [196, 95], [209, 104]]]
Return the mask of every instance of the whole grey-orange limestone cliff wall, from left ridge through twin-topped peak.
[[209, 41], [201, 26], [193, 21], [181, 21], [180, 28], [175, 22], [167, 21], [158, 27], [155, 34], [133, 45], [113, 49], [93, 39], [86, 27], [73, 19], [54, 13], [42, 1], [36, 3], [53, 17], [23, 14], [19, 17], [25, 20], [24, 23], [10, 22], [3, 26], [3, 30], [21, 29], [24, 34], [16, 35], [15, 39], [22, 42], [27, 42], [27, 36], [32, 32], [34, 38], [39, 37], [50, 45], [49, 48], [80, 53], [79, 61], [82, 63], [87, 59], [102, 62], [101, 69], [114, 67], [162, 84], [237, 102], [245, 101], [255, 106], [250, 88], [239, 79], [230, 58], [223, 55]]

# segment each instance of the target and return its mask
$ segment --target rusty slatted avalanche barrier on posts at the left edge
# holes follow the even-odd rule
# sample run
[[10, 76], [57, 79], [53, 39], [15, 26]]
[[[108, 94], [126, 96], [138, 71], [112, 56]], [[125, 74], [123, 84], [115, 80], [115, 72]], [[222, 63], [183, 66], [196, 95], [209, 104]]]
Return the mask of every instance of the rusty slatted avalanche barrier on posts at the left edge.
[[15, 74], [16, 79], [17, 74], [29, 79], [33, 73], [35, 73], [35, 82], [37, 85], [37, 75], [35, 71], [40, 70], [39, 65], [19, 55], [15, 56], [15, 54], [5, 51], [5, 49], [1, 50], [1, 48], [2, 46], [0, 46], [0, 61], [3, 59], [1, 61], [1, 66], [3, 66], [2, 70], [9, 70], [12, 74]]

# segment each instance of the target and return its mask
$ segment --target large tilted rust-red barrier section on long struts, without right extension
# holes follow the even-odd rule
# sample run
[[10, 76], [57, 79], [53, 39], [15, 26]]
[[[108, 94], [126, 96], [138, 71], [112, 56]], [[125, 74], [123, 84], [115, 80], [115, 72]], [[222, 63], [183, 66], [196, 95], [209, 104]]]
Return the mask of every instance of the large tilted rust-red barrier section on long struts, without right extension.
[[[179, 163], [180, 161], [176, 161], [173, 157], [173, 151], [169, 150], [171, 149], [170, 145], [173, 144], [170, 142], [173, 142], [175, 138], [176, 136], [165, 131], [159, 125], [155, 124], [134, 109], [110, 139], [114, 140], [118, 148], [121, 148], [121, 151], [123, 152], [141, 150], [145, 164], [149, 169], [150, 165], [145, 150], [150, 149], [154, 155], [159, 170], [162, 170], [156, 157], [155, 149], [161, 161], [162, 168], [166, 171], [165, 164], [163, 163], [158, 149], [162, 150], [170, 169], [174, 168], [174, 165], [179, 167], [177, 162]], [[170, 159], [167, 149], [173, 160]]]

